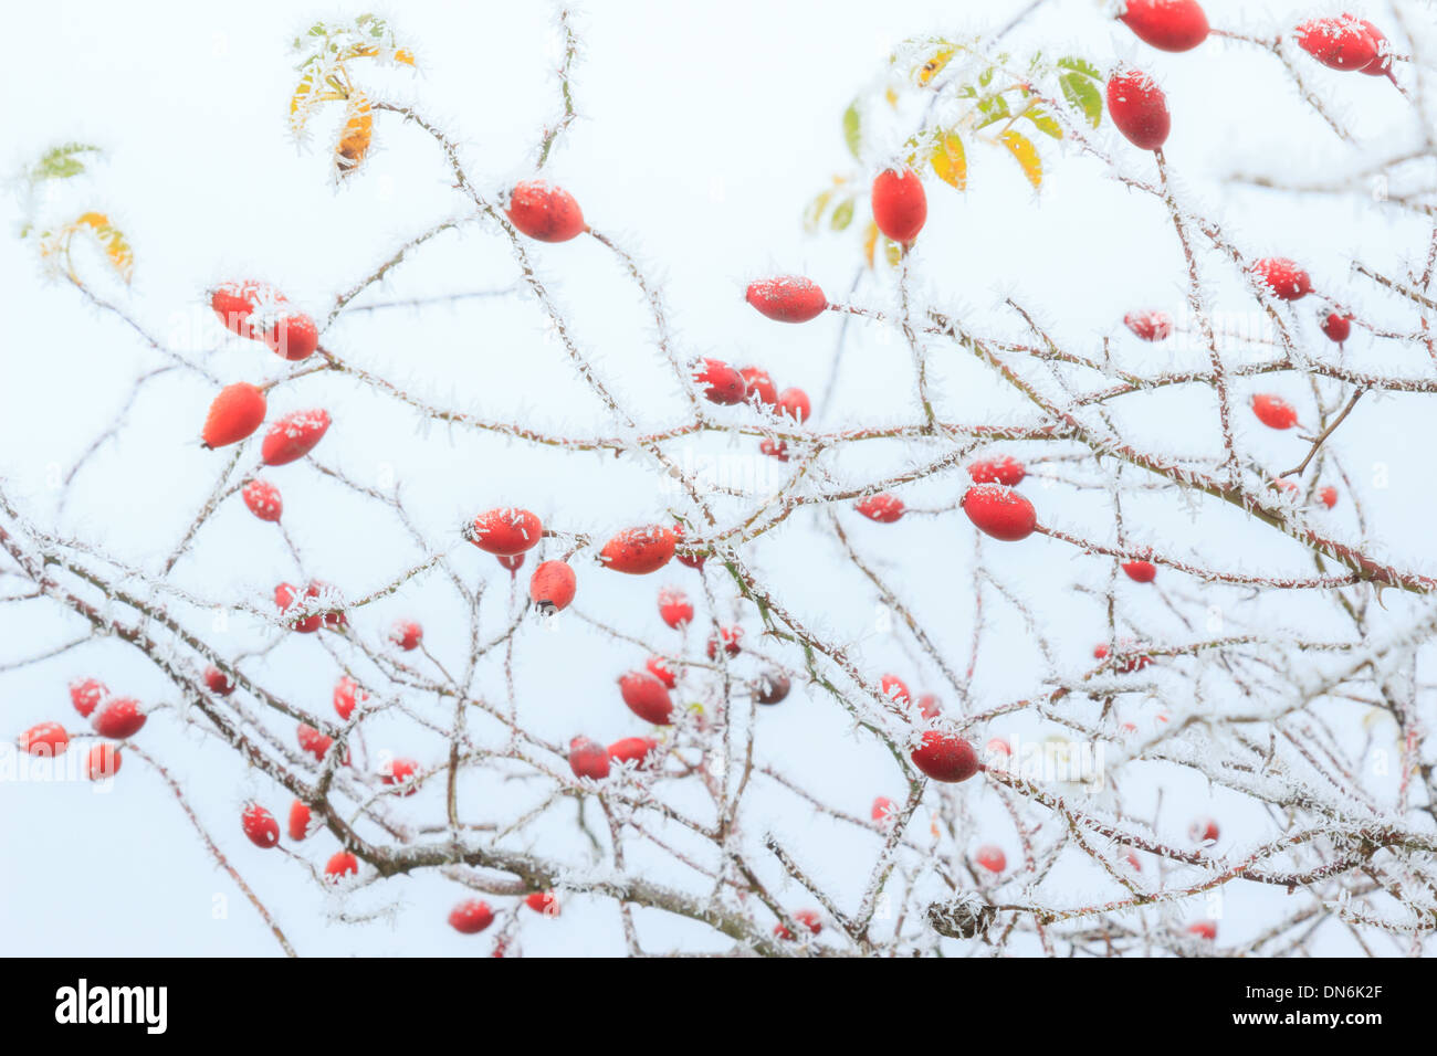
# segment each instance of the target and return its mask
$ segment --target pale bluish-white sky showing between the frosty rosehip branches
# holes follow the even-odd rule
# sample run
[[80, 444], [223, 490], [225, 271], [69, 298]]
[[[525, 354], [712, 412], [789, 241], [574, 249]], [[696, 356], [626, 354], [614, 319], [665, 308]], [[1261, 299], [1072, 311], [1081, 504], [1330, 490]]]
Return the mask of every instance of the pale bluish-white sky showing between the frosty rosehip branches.
[[[575, 72], [579, 119], [546, 172], [575, 193], [596, 228], [619, 238], [641, 257], [647, 273], [662, 282], [685, 355], [769, 368], [780, 388], [808, 389], [823, 427], [911, 421], [911, 363], [900, 342], [855, 325], [835, 402], [819, 407], [838, 319], [779, 326], [752, 312], [741, 292], [753, 277], [799, 272], [818, 280], [832, 299], [845, 296], [859, 261], [856, 226], [842, 236], [806, 236], [799, 223], [805, 204], [831, 175], [856, 172], [839, 131], [845, 106], [881, 83], [887, 56], [902, 39], [987, 32], [1020, 7], [1016, 0], [585, 4], [576, 16], [583, 42]], [[1309, 4], [1292, 3], [1211, 0], [1206, 7], [1214, 26], [1265, 33], [1315, 13]], [[1382, 23], [1382, 4], [1348, 7]], [[315, 19], [352, 17], [364, 10], [369, 7], [254, 3], [240, 11], [233, 6], [57, 1], [26, 4], [9, 14], [10, 37], [26, 46], [10, 49], [0, 70], [0, 114], [7, 131], [0, 161], [6, 171], [19, 171], [62, 141], [105, 147], [108, 161], [86, 180], [63, 187], [62, 197], [49, 204], [72, 214], [89, 207], [108, 211], [129, 234], [138, 261], [132, 290], [115, 296], [128, 297], [132, 312], [152, 329], [172, 335], [177, 345], [223, 345], [207, 365], [226, 379], [276, 376], [283, 363], [260, 346], [223, 341], [213, 318], [201, 310], [201, 292], [211, 282], [260, 276], [320, 315], [336, 292], [371, 272], [405, 238], [463, 213], [464, 200], [448, 188], [448, 171], [433, 141], [401, 128], [391, 115], [376, 119], [376, 145], [365, 170], [338, 191], [326, 157], [338, 111], [318, 116], [308, 148], [296, 148], [287, 135], [286, 106], [295, 82], [290, 39]], [[558, 112], [550, 73], [556, 57], [552, 7], [407, 3], [389, 14], [401, 43], [417, 53], [421, 72], [364, 70], [365, 83], [378, 95], [412, 101], [460, 139], [470, 177], [486, 191], [497, 193], [529, 174], [539, 129]], [[1190, 207], [1220, 216], [1229, 236], [1250, 253], [1296, 257], [1319, 289], [1334, 292], [1375, 323], [1411, 326], [1400, 306], [1349, 277], [1348, 261], [1357, 257], [1400, 274], [1424, 247], [1420, 226], [1362, 198], [1352, 204], [1282, 201], [1221, 182], [1233, 171], [1332, 178], [1398, 149], [1408, 111], [1387, 80], [1329, 73], [1315, 63], [1305, 68], [1334, 109], [1355, 122], [1361, 147], [1354, 149], [1300, 105], [1280, 68], [1255, 49], [1211, 39], [1193, 53], [1160, 53], [1140, 45], [1091, 0], [1053, 0], [1006, 46], [1026, 55], [1035, 42], [1045, 53], [1078, 53], [1104, 70], [1125, 60], [1154, 73], [1173, 111], [1167, 155]], [[1121, 141], [1109, 122], [1095, 139], [1129, 171], [1155, 177], [1151, 159]], [[1013, 296], [1075, 346], [1096, 351], [1101, 338], [1111, 336], [1122, 355], [1201, 362], [1203, 355], [1181, 341], [1138, 348], [1121, 325], [1124, 312], [1134, 307], [1180, 313], [1184, 277], [1161, 207], [1119, 188], [1092, 159], [1050, 142], [1040, 147], [1048, 181], [1036, 197], [1010, 158], [981, 147], [970, 148], [966, 195], [930, 181], [930, 218], [914, 257], [917, 296], [961, 313], [974, 326], [1016, 333], [1012, 315], [1000, 310], [1003, 299]], [[865, 158], [872, 167], [879, 159], [878, 152]], [[20, 217], [17, 198], [0, 200], [0, 210], [13, 230]], [[645, 424], [681, 418], [673, 375], [648, 343], [651, 320], [604, 249], [578, 240], [537, 247], [533, 256], [573, 320], [579, 342], [614, 388], [642, 408]], [[1216, 303], [1247, 312], [1237, 276], [1213, 263], [1206, 267]], [[366, 297], [431, 296], [510, 282], [509, 250], [491, 230], [471, 226], [460, 237], [435, 240]], [[63, 533], [152, 566], [180, 539], [218, 471], [221, 455], [203, 451], [195, 441], [211, 386], [177, 374], [147, 388], [118, 441], [82, 470], [76, 493], [57, 514], [47, 478], [55, 467], [68, 468], [105, 428], [129, 379], [155, 358], [115, 319], [86, 309], [73, 290], [45, 282], [32, 249], [14, 237], [0, 243], [0, 289], [6, 292], [7, 332], [6, 379], [0, 385], [0, 476], [6, 488], [37, 522], [57, 523]], [[888, 310], [892, 284], [869, 282], [858, 300]], [[1299, 305], [1296, 316], [1319, 348], [1323, 339], [1309, 303]], [[601, 408], [558, 348], [545, 342], [539, 319], [527, 299], [480, 300], [422, 315], [354, 316], [336, 325], [325, 342], [444, 405], [552, 431], [582, 435], [602, 430]], [[948, 352], [933, 349], [944, 417], [1002, 420], [1010, 401], [994, 408], [992, 382], [971, 361]], [[1430, 369], [1415, 359], [1415, 351], [1378, 345], [1364, 333], [1354, 336], [1348, 353], [1354, 363], [1372, 369]], [[1299, 414], [1311, 412], [1306, 382], [1285, 376], [1263, 382], [1263, 388], [1293, 401]], [[1242, 386], [1240, 395], [1252, 391], [1256, 386]], [[1365, 487], [1367, 516], [1382, 552], [1404, 566], [1437, 573], [1428, 546], [1433, 425], [1418, 399], [1367, 401], [1336, 443]], [[675, 501], [655, 494], [651, 476], [632, 460], [559, 458], [464, 434], [454, 434], [450, 443], [440, 430], [425, 437], [412, 417], [342, 378], [286, 386], [272, 398], [272, 417], [320, 402], [332, 411], [335, 425], [316, 455], [368, 483], [387, 473], [404, 481], [407, 500], [430, 536], [454, 543], [458, 568], [491, 585], [486, 609], [490, 631], [503, 619], [507, 573], [487, 555], [454, 542], [453, 530], [466, 517], [496, 504], [519, 504], [559, 527], [606, 533], [657, 517]], [[1184, 404], [1161, 397], [1125, 408], [1124, 421], [1145, 444], [1210, 451], [1216, 427], [1207, 407], [1206, 401]], [[749, 421], [743, 409], [720, 414]], [[1273, 470], [1288, 468], [1305, 450], [1293, 437], [1262, 430], [1244, 415], [1240, 443]], [[752, 440], [730, 447], [727, 438], [713, 437], [691, 451], [675, 451], [696, 458], [749, 455], [752, 447]], [[923, 458], [921, 451], [898, 445], [864, 448], [845, 458], [842, 478], [861, 483]], [[1378, 464], [1385, 487], [1372, 483]], [[315, 575], [359, 595], [415, 562], [402, 533], [365, 520], [362, 506], [303, 464], [266, 476], [285, 493], [285, 523]], [[957, 487], [950, 474], [907, 488], [904, 499], [918, 509], [947, 504]], [[1038, 481], [1026, 490], [1045, 523], [1109, 537], [1101, 496], [1075, 494], [1062, 486], [1042, 488]], [[1300, 549], [1233, 511], [1206, 513], [1194, 527], [1171, 497], [1134, 501], [1127, 510], [1135, 539], [1184, 553], [1197, 547], [1204, 560], [1221, 568], [1311, 570]], [[973, 560], [966, 520], [910, 517], [890, 527], [848, 511], [841, 516], [855, 545], [902, 585], [944, 651], [960, 658], [956, 667], [966, 664], [971, 631], [967, 566]], [[750, 557], [780, 596], [792, 598], [816, 626], [829, 628], [839, 639], [862, 639], [855, 652], [875, 678], [892, 670], [914, 688], [941, 693], [938, 674], [921, 654], [892, 635], [872, 634], [877, 599], [852, 570], [838, 570], [833, 545], [815, 530], [819, 517], [795, 517]], [[1357, 539], [1351, 503], [1321, 523]], [[1040, 613], [1058, 644], [1059, 665], [1068, 672], [1081, 670], [1102, 634], [1101, 606], [1068, 588], [1079, 582], [1102, 589], [1108, 565], [1038, 537], [1020, 550], [986, 545], [984, 553]], [[520, 582], [533, 563], [532, 556]], [[175, 569], [177, 582], [187, 589], [260, 603], [273, 583], [293, 575], [270, 527], [237, 500]], [[684, 585], [701, 601], [697, 579], [678, 566], [632, 580], [581, 566], [576, 608], [634, 634], [673, 642], [662, 638], [667, 632], [652, 605], [654, 592], [667, 582]], [[1207, 596], [1177, 575], [1164, 573], [1163, 582], [1190, 596]], [[356, 628], [378, 638], [391, 619], [414, 615], [424, 622], [431, 649], [457, 662], [467, 628], [444, 586], [440, 579], [424, 579], [358, 616]], [[1119, 588], [1138, 619], [1152, 621], [1154, 634], [1173, 634], [1178, 625], [1161, 603], [1151, 592], [1137, 590], [1129, 583]], [[1211, 590], [1214, 605], [1236, 603], [1233, 598]], [[1311, 636], [1345, 629], [1306, 598], [1243, 605], [1236, 615], [1244, 621], [1296, 626]], [[1388, 598], [1388, 606], [1394, 628], [1418, 611], [1403, 598]], [[1193, 611], [1201, 615], [1203, 608]], [[729, 615], [724, 612], [726, 621]], [[1035, 684], [1038, 654], [1025, 641], [1020, 619], [1007, 611], [996, 612], [994, 621], [971, 687], [981, 705], [1025, 695]], [[746, 624], [756, 634], [752, 616]], [[53, 611], [3, 608], [0, 662], [63, 642], [76, 629]], [[236, 634], [244, 641], [263, 638], [254, 626], [239, 626]], [[641, 733], [642, 724], [619, 704], [611, 680], [642, 657], [641, 651], [624, 655], [578, 621], [565, 622], [553, 635], [526, 631], [516, 654], [526, 717], [543, 736], [562, 740], [588, 733], [608, 743]], [[335, 671], [313, 642], [286, 642], [257, 671], [296, 703], [331, 715]], [[85, 674], [151, 704], [172, 700], [158, 674], [132, 649], [99, 642], [0, 674], [4, 728], [17, 733], [46, 718], [79, 726], [66, 684]], [[486, 685], [502, 694], [497, 668]], [[1151, 713], [1135, 718], [1144, 715], [1151, 723]], [[1040, 737], [1048, 730], [1025, 720], [990, 733]], [[385, 737], [392, 738], [392, 750], [421, 760], [437, 759], [440, 751], [437, 740], [417, 741], [398, 726], [381, 727], [371, 749], [384, 746]], [[181, 733], [168, 715], [151, 720], [141, 738], [187, 784], [224, 852], [302, 954], [487, 951], [487, 935], [467, 938], [444, 924], [461, 891], [438, 876], [368, 888], [348, 907], [397, 905], [392, 921], [335, 924], [331, 914], [338, 902], [332, 897], [279, 853], [251, 848], [240, 832], [239, 809], [246, 799], [259, 796], [283, 823], [287, 795], [266, 779], [244, 774], [221, 746]], [[792, 766], [806, 787], [846, 810], [867, 815], [875, 795], [897, 799], [901, 793], [891, 759], [871, 740], [852, 736], [831, 701], [796, 693], [783, 707], [760, 715], [759, 743], [766, 759]], [[1265, 812], [1210, 792], [1191, 774], [1170, 774], [1163, 782], [1160, 832], [1173, 839], [1180, 839], [1198, 813], [1223, 822], [1223, 849], [1237, 851], [1272, 833]], [[1128, 792], [1141, 803], [1155, 787], [1144, 777]], [[474, 795], [476, 802], [484, 802], [484, 796], [529, 793], [491, 783], [476, 784]], [[1016, 840], [996, 800], [976, 787], [966, 795], [971, 799], [973, 842], [997, 842], [1013, 859]], [[775, 795], [770, 800], [767, 815], [750, 822], [750, 836], [772, 828], [802, 848], [818, 875], [856, 899], [858, 891], [842, 888], [842, 878], [862, 882], [867, 865], [855, 869], [851, 855], [871, 855], [874, 840], [815, 822], [790, 797]], [[428, 816], [437, 818], [438, 789], [425, 790], [414, 805], [417, 810], [427, 805]], [[546, 840], [540, 849], [579, 846], [570, 816], [556, 813], [540, 826]], [[10, 851], [10, 865], [0, 871], [0, 934], [10, 953], [277, 953], [253, 909], [216, 869], [172, 796], [139, 760], [126, 761], [105, 796], [85, 783], [0, 783], [0, 845]], [[328, 833], [299, 846], [319, 865], [333, 849]], [[644, 865], [644, 852], [635, 852], [635, 866], [642, 871]], [[764, 875], [776, 878], [777, 872], [770, 868]], [[1065, 875], [1062, 897], [1049, 892], [1065, 904], [1109, 889], [1081, 866]], [[780, 889], [792, 908], [812, 901], [800, 889]], [[217, 897], [228, 899], [226, 918], [213, 912]], [[1206, 915], [1197, 904], [1187, 908], [1191, 912], [1178, 914], [1184, 920]], [[1220, 941], [1240, 945], [1244, 934], [1257, 931], [1280, 908], [1279, 892], [1233, 889]], [[526, 918], [522, 948], [527, 954], [618, 953], [622, 938], [611, 905], [575, 897], [559, 921]], [[639, 930], [655, 948], [684, 937], [703, 948], [721, 947], [711, 932], [657, 912], [641, 912]]]

